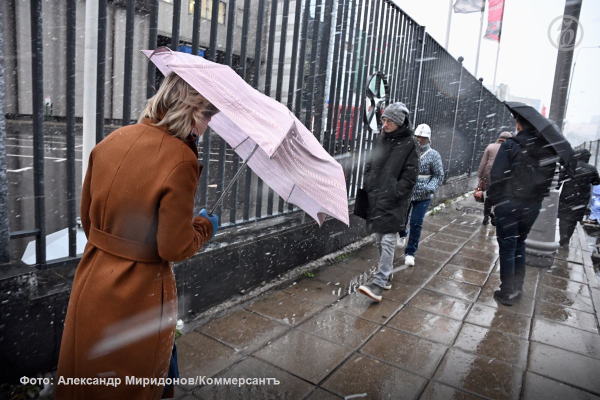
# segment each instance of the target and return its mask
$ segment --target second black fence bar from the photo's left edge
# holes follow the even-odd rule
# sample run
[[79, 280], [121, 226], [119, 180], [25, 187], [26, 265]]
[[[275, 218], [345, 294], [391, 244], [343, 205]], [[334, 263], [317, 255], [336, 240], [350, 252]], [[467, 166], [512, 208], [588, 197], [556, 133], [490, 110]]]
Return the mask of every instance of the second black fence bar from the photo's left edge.
[[46, 263], [46, 194], [44, 193], [44, 64], [41, 0], [31, 0], [31, 97], [34, 133], [35, 262]]

